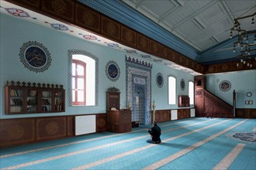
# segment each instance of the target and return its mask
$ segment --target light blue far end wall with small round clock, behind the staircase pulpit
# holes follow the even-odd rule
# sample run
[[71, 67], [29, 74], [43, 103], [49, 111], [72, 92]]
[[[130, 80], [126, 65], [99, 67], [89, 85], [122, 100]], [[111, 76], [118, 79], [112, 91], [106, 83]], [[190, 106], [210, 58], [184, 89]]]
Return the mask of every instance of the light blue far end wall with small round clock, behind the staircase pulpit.
[[[228, 80], [231, 83], [231, 89], [227, 92], [220, 90], [220, 82], [223, 80]], [[256, 108], [256, 70], [207, 75], [206, 89], [231, 105], [233, 90], [236, 90], [237, 108]], [[247, 97], [247, 92], [251, 92], [252, 96]], [[245, 104], [245, 100], [253, 100], [253, 104]]]

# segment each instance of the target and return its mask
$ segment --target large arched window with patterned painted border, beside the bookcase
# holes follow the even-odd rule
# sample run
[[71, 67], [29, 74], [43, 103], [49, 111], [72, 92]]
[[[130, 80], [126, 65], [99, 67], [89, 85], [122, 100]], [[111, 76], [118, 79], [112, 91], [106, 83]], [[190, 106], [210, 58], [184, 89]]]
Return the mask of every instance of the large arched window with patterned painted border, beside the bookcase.
[[98, 105], [99, 59], [83, 50], [68, 50], [68, 103]]

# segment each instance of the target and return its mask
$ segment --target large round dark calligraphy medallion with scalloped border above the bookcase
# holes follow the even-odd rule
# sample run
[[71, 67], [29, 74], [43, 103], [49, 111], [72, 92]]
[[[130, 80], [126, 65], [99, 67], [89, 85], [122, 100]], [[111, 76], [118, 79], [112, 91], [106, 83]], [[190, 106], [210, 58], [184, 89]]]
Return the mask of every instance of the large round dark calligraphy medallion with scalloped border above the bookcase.
[[48, 70], [51, 63], [48, 49], [36, 41], [24, 43], [19, 50], [19, 58], [26, 68], [36, 73]]

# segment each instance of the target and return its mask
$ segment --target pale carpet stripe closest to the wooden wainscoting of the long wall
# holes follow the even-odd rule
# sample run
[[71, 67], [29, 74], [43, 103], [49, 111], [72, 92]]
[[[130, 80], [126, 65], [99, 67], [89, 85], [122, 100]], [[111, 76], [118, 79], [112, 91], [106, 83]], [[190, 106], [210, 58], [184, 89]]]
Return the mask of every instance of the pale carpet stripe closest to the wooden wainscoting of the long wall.
[[[202, 119], [202, 118], [198, 118], [198, 119]], [[175, 123], [171, 122], [171, 124], [164, 124], [162, 127], [167, 127], [167, 126], [174, 125], [174, 124], [181, 124], [183, 122], [188, 122], [188, 121], [193, 121], [193, 120], [178, 121], [178, 122], [175, 122]], [[126, 132], [126, 133], [134, 133], [134, 132], [138, 132], [138, 131], [147, 131], [147, 130], [146, 129], [140, 129], [140, 130], [130, 131], [130, 132]], [[10, 156], [28, 154], [28, 153], [32, 153], [32, 152], [35, 152], [35, 151], [44, 151], [44, 150], [51, 149], [51, 148], [60, 148], [60, 147], [69, 146], [69, 145], [76, 145], [76, 144], [81, 144], [81, 143], [85, 143], [85, 142], [88, 142], [88, 141], [96, 141], [96, 140], [100, 140], [100, 139], [104, 139], [104, 138], [112, 138], [114, 136], [119, 136], [119, 135], [123, 135], [123, 134], [111, 134], [111, 135], [103, 136], [103, 137], [99, 137], [99, 138], [91, 138], [91, 139], [86, 139], [86, 140], [83, 140], [83, 141], [74, 141], [74, 142], [71, 142], [71, 143], [63, 144], [63, 145], [55, 145], [55, 146], [50, 146], [50, 147], [45, 147], [45, 148], [33, 149], [33, 150], [29, 150], [29, 151], [20, 151], [20, 152], [13, 153], [13, 154], [1, 155], [0, 158], [7, 158], [7, 157], [10, 157]]]

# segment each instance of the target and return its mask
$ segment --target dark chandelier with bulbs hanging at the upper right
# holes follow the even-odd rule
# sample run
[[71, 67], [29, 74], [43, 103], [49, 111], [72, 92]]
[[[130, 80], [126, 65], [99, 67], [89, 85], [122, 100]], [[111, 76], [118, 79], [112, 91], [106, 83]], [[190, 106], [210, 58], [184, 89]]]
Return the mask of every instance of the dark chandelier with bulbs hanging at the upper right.
[[[230, 29], [230, 39], [233, 37], [237, 38], [234, 42], [233, 53], [236, 53], [237, 57], [240, 58], [240, 63], [246, 65], [248, 68], [253, 66], [253, 59], [256, 60], [255, 15], [256, 12], [234, 19], [234, 26]], [[237, 66], [240, 63], [237, 63]]]

